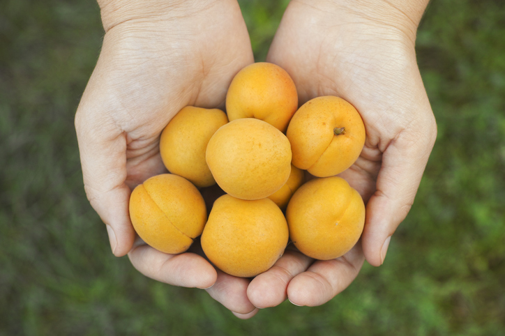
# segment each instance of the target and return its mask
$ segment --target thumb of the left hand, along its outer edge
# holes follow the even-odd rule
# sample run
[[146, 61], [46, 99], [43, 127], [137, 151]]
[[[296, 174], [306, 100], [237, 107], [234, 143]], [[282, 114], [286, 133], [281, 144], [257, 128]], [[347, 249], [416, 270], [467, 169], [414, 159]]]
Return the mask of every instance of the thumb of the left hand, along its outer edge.
[[112, 253], [121, 257], [135, 240], [128, 213], [130, 188], [125, 183], [126, 135], [107, 114], [96, 113], [100, 107], [86, 96], [85, 91], [75, 115], [84, 190], [107, 226]]

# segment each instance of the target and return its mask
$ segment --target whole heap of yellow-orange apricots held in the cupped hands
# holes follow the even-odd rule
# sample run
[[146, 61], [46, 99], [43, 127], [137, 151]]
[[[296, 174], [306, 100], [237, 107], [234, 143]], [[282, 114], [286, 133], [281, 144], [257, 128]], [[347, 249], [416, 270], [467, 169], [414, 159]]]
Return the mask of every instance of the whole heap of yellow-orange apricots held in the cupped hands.
[[[165, 253], [202, 250], [238, 277], [262, 273], [289, 240], [314, 259], [335, 259], [359, 240], [365, 206], [337, 174], [353, 165], [365, 128], [345, 100], [325, 96], [298, 107], [293, 80], [271, 63], [236, 74], [220, 109], [184, 107], [160, 137], [171, 174], [153, 176], [130, 197], [130, 218], [145, 243]], [[308, 171], [315, 176], [305, 182]], [[207, 215], [200, 190], [225, 194]]]

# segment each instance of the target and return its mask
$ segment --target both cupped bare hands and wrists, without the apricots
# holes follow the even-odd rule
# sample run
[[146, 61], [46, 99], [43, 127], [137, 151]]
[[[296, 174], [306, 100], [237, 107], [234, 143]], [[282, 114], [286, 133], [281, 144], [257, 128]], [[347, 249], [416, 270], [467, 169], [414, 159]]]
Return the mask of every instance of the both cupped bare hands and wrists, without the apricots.
[[273, 307], [286, 298], [296, 305], [321, 305], [354, 280], [365, 257], [374, 266], [382, 264], [435, 142], [435, 119], [414, 52], [426, 3], [289, 4], [267, 61], [289, 72], [300, 103], [336, 95], [361, 113], [365, 148], [341, 176], [368, 202], [368, 217], [363, 249], [359, 242], [343, 257], [315, 262], [288, 249], [250, 282], [216, 271], [194, 253], [163, 254], [142, 241], [134, 246], [128, 217], [130, 188], [165, 172], [158, 152], [163, 127], [186, 105], [223, 107], [232, 77], [252, 63], [238, 5], [99, 1], [104, 44], [75, 125], [86, 194], [107, 224], [114, 254], [130, 252], [135, 268], [167, 284], [213, 284], [209, 294], [242, 319], [253, 316], [255, 307]]

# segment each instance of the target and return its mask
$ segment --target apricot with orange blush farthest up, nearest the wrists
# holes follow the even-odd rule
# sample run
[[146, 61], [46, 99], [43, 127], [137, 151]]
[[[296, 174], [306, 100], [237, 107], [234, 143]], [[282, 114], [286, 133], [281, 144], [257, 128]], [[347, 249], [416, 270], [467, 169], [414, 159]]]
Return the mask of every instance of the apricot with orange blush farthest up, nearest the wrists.
[[226, 113], [229, 121], [255, 118], [285, 132], [298, 108], [298, 93], [286, 70], [273, 63], [252, 63], [229, 85]]

